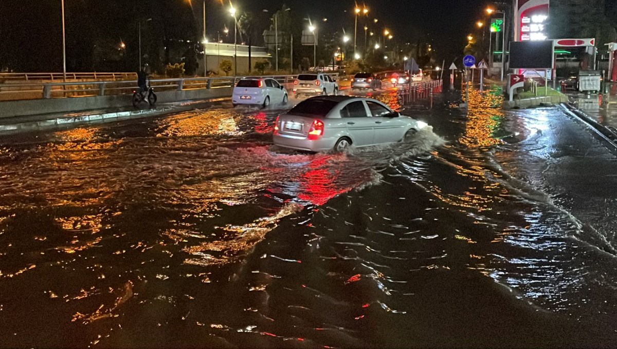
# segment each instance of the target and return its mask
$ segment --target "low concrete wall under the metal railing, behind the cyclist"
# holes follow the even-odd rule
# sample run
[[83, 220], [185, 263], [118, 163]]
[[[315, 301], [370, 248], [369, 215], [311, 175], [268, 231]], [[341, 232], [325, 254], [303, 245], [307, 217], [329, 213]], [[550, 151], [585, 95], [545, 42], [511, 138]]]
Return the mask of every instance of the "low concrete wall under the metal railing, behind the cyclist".
[[[157, 103], [231, 97], [231, 87], [156, 92]], [[13, 100], [0, 103], [0, 118], [132, 107], [131, 95]]]

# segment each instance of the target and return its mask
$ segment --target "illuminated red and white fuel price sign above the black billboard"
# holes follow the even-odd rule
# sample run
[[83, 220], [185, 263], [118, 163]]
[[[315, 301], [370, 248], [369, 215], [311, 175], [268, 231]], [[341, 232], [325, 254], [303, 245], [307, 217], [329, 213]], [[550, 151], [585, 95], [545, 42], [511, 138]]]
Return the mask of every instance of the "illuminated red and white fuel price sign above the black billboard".
[[547, 39], [550, 0], [518, 0], [516, 3], [515, 41]]

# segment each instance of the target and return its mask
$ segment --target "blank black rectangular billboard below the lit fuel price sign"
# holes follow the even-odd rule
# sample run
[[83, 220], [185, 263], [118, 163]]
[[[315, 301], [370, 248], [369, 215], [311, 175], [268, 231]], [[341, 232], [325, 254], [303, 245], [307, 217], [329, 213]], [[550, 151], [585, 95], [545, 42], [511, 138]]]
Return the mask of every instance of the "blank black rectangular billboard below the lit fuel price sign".
[[510, 68], [552, 69], [553, 41], [510, 42]]

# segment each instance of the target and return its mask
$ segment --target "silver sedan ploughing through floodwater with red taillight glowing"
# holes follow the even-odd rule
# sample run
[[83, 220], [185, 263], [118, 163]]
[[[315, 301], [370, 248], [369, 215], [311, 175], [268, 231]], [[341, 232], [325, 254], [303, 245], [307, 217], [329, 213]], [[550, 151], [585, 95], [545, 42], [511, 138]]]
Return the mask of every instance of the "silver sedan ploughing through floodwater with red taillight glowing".
[[349, 146], [398, 142], [426, 126], [370, 98], [319, 96], [278, 116], [273, 140], [284, 148], [344, 151]]

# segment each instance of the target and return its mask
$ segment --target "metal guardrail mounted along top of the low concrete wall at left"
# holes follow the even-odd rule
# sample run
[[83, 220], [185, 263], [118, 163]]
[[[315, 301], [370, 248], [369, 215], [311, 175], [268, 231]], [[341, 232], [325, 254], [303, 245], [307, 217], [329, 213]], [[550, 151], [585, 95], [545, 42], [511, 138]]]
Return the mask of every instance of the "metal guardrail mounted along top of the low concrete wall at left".
[[[334, 79], [337, 73], [330, 74]], [[273, 78], [281, 84], [290, 84], [297, 75], [261, 76]], [[151, 79], [151, 87], [156, 91], [190, 90], [190, 89], [217, 89], [236, 86], [236, 82], [244, 76], [230, 76], [222, 78], [177, 78]], [[27, 100], [67, 97], [89, 97], [105, 95], [133, 94], [137, 87], [137, 80], [118, 81], [78, 81], [78, 82], [12, 82], [0, 83], [0, 101]]]

